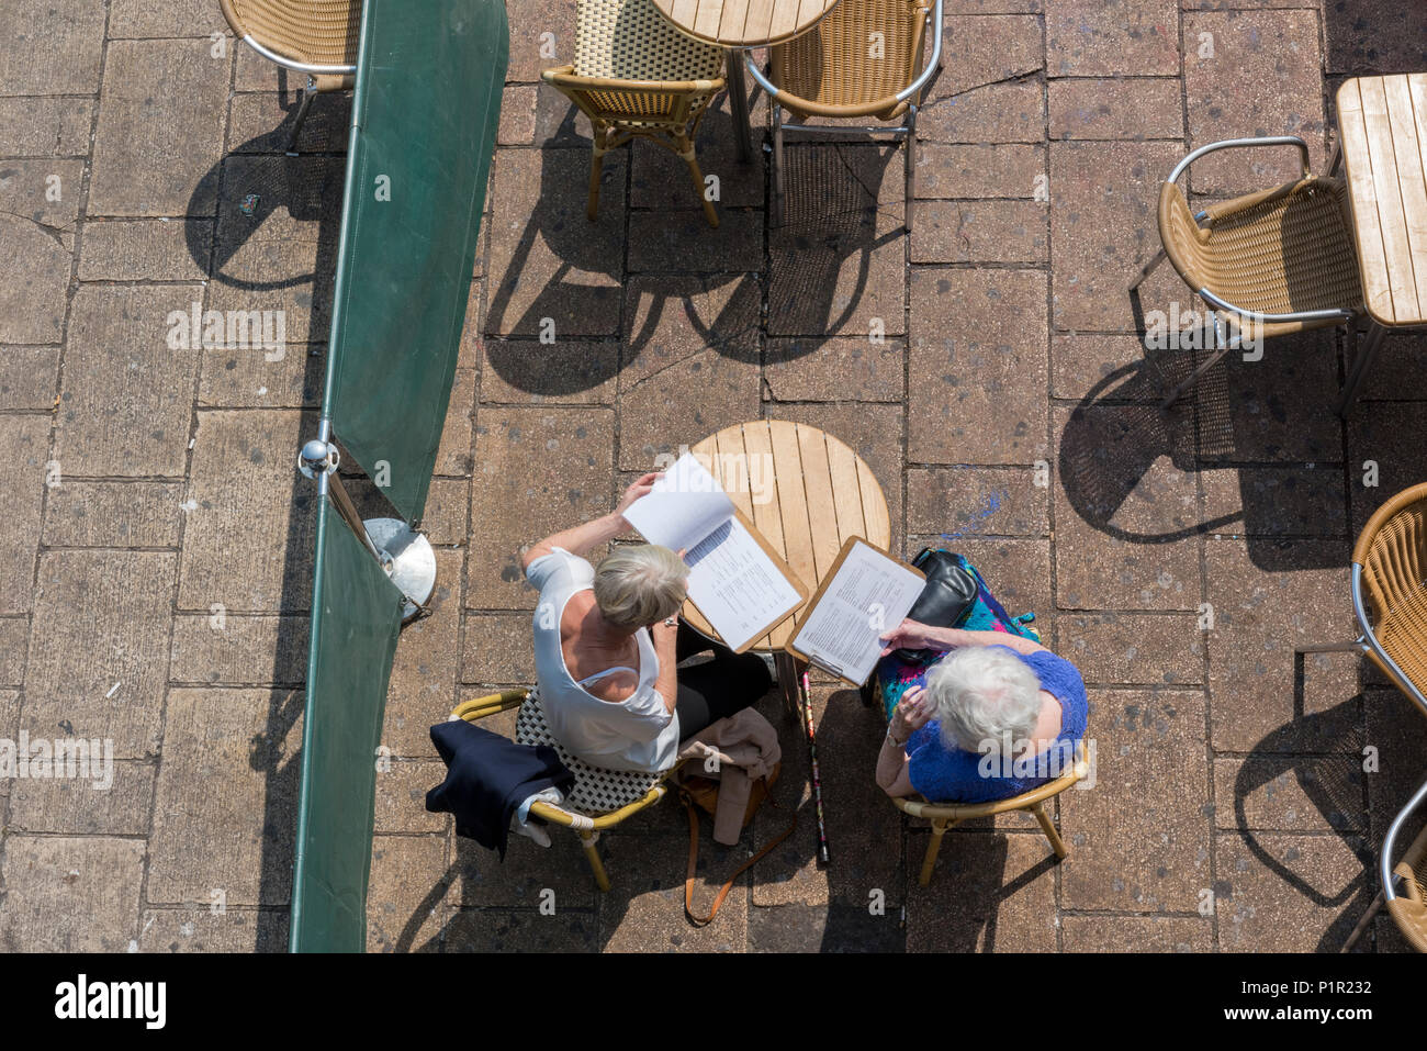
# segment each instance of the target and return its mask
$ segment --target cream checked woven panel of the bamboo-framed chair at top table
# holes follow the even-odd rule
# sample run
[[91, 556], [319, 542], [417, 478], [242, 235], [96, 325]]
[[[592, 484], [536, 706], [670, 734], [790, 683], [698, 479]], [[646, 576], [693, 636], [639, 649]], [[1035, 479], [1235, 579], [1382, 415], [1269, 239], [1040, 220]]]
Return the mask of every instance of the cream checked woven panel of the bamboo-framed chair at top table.
[[578, 0], [578, 77], [686, 81], [719, 76], [723, 51], [679, 33], [652, 0]]

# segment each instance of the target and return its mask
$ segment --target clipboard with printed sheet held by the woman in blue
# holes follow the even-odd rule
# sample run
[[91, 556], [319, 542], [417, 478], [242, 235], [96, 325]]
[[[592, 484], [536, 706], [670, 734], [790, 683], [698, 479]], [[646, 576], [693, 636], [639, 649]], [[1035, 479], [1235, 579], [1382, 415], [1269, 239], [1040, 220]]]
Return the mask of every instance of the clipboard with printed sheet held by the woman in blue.
[[882, 635], [912, 611], [925, 584], [919, 570], [850, 537], [808, 601], [788, 653], [862, 685], [878, 665]]

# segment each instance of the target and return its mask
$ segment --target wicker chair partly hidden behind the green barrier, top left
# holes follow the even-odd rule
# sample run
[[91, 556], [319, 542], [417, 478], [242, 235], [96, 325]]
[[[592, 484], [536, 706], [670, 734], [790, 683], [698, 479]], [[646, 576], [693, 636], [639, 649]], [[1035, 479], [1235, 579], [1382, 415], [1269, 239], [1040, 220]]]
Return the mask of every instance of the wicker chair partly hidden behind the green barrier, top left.
[[285, 70], [307, 74], [287, 141], [287, 154], [295, 157], [313, 96], [355, 83], [361, 0], [218, 0], [218, 6], [248, 47]]

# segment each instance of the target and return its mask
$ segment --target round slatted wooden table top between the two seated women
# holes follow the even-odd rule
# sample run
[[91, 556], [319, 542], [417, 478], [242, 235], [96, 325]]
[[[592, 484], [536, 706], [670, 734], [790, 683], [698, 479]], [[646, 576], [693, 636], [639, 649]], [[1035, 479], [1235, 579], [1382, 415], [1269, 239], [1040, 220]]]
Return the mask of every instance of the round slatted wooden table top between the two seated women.
[[[872, 468], [816, 427], [758, 420], [725, 427], [689, 451], [812, 590], [832, 568], [848, 537], [862, 537], [883, 550], [890, 545], [888, 500]], [[751, 648], [782, 650], [796, 630], [798, 615]], [[684, 618], [718, 638], [692, 603], [685, 603]]]

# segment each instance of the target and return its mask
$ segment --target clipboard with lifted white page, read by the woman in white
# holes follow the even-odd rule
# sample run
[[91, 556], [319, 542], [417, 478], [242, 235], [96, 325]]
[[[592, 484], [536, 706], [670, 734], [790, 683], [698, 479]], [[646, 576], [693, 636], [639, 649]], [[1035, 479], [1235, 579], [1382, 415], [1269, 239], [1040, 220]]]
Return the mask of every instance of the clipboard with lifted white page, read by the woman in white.
[[739, 513], [718, 480], [685, 453], [625, 518], [651, 544], [685, 551], [689, 600], [743, 653], [808, 598], [808, 588]]

